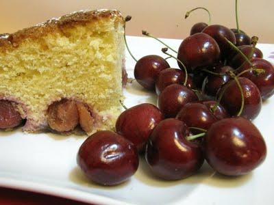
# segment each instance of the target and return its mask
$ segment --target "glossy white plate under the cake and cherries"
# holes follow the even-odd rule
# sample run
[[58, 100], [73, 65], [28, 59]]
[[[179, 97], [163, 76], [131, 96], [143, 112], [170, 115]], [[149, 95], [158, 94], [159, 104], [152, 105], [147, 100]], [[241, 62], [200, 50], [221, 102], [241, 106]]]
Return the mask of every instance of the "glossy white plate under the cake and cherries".
[[[180, 40], [164, 40], [175, 49]], [[128, 37], [136, 57], [162, 55], [162, 45], [153, 39]], [[271, 60], [273, 44], [259, 44]], [[171, 66], [177, 67], [174, 60]], [[134, 61], [127, 55], [127, 71], [133, 77]], [[156, 102], [155, 94], [137, 84], [127, 85], [125, 105]], [[24, 134], [20, 130], [0, 133], [0, 186], [37, 191], [96, 204], [273, 204], [274, 98], [264, 102], [256, 126], [262, 132], [268, 153], [264, 163], [247, 176], [227, 178], [215, 174], [205, 163], [198, 174], [174, 182], [151, 176], [145, 162], [138, 172], [118, 187], [100, 187], [88, 182], [76, 165], [76, 154], [86, 137]]]

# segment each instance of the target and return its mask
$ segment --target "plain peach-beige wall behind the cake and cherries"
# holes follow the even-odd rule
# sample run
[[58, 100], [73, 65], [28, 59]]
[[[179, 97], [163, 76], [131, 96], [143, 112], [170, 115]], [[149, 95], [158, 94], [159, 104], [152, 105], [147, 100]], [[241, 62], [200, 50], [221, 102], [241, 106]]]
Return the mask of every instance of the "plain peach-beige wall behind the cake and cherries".
[[[186, 38], [190, 27], [197, 22], [208, 22], [203, 10], [184, 14], [197, 6], [212, 12], [212, 23], [236, 27], [234, 0], [0, 0], [0, 33], [14, 32], [54, 16], [82, 9], [116, 8], [124, 16], [132, 15], [127, 35], [141, 36], [146, 29], [162, 38]], [[259, 42], [274, 43], [273, 0], [239, 0], [240, 28]]]

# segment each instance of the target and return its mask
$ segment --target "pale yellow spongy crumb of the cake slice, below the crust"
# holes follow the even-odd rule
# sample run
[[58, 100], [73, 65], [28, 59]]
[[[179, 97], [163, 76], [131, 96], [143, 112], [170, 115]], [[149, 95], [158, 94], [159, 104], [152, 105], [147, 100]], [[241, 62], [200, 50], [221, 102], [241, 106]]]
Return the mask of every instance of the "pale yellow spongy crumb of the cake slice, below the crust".
[[47, 108], [62, 98], [92, 109], [94, 131], [114, 126], [123, 98], [123, 32], [115, 18], [99, 18], [0, 48], [0, 96], [21, 105], [25, 131], [46, 128]]

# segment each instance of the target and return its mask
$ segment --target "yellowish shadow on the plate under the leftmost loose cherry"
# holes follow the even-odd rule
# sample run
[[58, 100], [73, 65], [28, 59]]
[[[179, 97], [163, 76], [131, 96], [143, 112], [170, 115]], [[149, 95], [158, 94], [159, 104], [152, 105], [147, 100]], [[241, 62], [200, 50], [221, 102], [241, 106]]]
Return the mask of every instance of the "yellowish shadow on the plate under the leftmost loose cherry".
[[71, 170], [69, 173], [69, 180], [71, 182], [78, 184], [83, 187], [89, 187], [89, 188], [95, 188], [95, 189], [121, 189], [122, 187], [127, 186], [129, 184], [130, 180], [127, 180], [126, 182], [123, 182], [122, 184], [116, 185], [116, 186], [102, 186], [100, 184], [96, 184], [95, 182], [92, 182], [89, 180], [82, 170], [79, 167], [75, 167], [74, 169]]

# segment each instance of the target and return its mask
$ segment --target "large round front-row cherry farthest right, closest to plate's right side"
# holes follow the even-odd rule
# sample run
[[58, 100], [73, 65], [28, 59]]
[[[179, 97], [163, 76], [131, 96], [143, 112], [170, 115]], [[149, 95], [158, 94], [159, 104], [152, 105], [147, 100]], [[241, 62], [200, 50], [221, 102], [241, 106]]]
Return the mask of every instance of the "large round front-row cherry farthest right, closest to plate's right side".
[[227, 118], [212, 124], [204, 149], [210, 166], [228, 176], [248, 174], [266, 158], [260, 131], [245, 118]]

